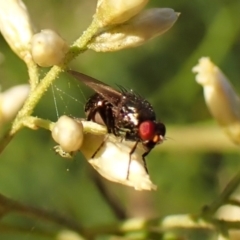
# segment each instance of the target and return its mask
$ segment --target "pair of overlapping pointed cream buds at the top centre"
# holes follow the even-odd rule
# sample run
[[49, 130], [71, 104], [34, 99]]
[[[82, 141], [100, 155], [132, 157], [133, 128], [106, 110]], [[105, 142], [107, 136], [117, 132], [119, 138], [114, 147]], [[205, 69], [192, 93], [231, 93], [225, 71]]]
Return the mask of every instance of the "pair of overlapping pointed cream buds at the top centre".
[[148, 1], [99, 0], [95, 20], [102, 28], [88, 44], [97, 52], [139, 46], [170, 29], [179, 13], [170, 8], [141, 11]]

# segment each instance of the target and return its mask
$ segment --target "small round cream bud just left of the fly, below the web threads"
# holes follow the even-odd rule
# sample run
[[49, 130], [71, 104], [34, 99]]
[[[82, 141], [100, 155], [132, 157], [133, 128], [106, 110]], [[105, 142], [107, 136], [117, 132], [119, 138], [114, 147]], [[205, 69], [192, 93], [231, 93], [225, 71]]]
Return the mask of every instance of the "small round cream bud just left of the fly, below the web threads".
[[83, 126], [68, 116], [61, 116], [52, 129], [52, 137], [63, 152], [77, 151], [83, 142]]

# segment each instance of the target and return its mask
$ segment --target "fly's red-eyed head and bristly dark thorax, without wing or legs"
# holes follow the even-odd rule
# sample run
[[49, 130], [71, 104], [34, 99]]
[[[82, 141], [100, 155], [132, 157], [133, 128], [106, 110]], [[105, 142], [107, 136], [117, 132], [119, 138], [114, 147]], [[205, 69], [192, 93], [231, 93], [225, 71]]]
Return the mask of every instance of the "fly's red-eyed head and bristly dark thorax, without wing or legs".
[[164, 140], [165, 125], [156, 121], [152, 105], [132, 91], [124, 91], [120, 109], [114, 112], [116, 126], [125, 131], [125, 138], [140, 141], [151, 150]]

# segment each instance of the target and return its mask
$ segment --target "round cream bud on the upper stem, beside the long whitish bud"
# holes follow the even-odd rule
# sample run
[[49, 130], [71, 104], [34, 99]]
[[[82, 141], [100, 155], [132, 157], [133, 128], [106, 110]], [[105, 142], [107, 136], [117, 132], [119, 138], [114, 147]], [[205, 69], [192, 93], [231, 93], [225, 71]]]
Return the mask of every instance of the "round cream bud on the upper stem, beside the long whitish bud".
[[67, 43], [53, 30], [42, 30], [32, 38], [32, 57], [41, 67], [58, 65], [67, 51]]

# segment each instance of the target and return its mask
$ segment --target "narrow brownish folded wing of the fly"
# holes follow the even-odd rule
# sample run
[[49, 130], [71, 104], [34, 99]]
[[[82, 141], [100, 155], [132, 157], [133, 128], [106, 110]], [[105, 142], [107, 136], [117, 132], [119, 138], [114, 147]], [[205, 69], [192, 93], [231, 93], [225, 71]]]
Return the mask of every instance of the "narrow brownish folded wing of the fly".
[[76, 72], [73, 70], [68, 70], [67, 72], [70, 73], [77, 80], [83, 82], [85, 85], [92, 88], [95, 92], [97, 92], [111, 104], [117, 106], [120, 102], [122, 94], [117, 90], [111, 88], [109, 85], [80, 72]]

